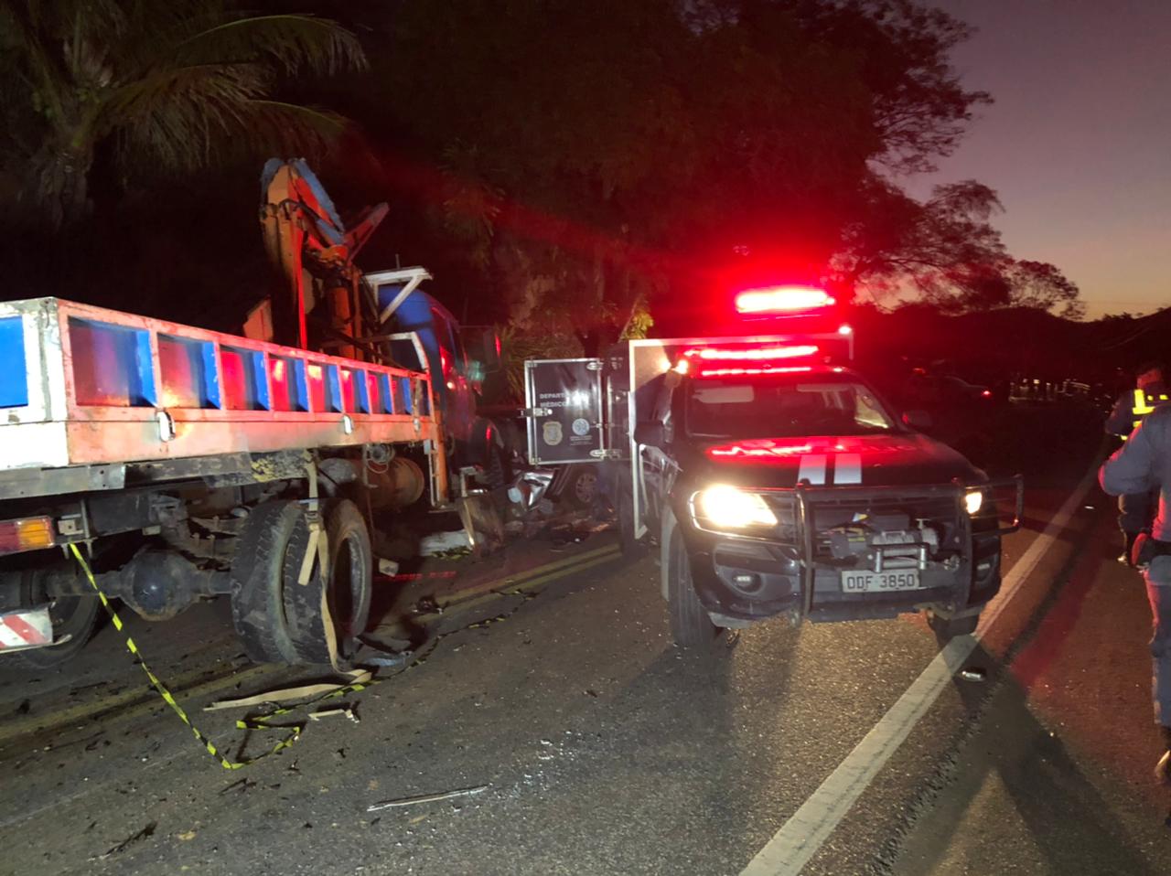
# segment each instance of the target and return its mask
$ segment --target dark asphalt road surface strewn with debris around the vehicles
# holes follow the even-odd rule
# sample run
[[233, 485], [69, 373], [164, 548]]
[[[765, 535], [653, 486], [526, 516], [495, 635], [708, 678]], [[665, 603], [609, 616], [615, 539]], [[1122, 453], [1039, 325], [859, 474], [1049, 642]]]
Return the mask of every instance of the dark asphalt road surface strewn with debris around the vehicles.
[[[111, 628], [67, 669], [0, 668], [0, 872], [796, 872], [759, 857], [812, 835], [795, 814], [826, 833], [806, 874], [1165, 872], [1142, 590], [1111, 564], [1104, 498], [1070, 500], [1093, 436], [1042, 438], [1006, 440], [999, 459], [1030, 487], [1005, 548], [1014, 590], [957, 666], [982, 680], [949, 675], [889, 760], [855, 769], [939, 652], [918, 617], [775, 622], [682, 651], [653, 562], [616, 559], [598, 534], [584, 560], [523, 546], [528, 567], [561, 566], [501, 572], [525, 595], [481, 586], [434, 618], [430, 635], [450, 635], [425, 662], [314, 706], [357, 723], [309, 721], [239, 771], [144, 687]], [[129, 627], [233, 758], [281, 732], [203, 705], [322, 680], [248, 665], [225, 604]], [[843, 769], [874, 773], [844, 806]]]

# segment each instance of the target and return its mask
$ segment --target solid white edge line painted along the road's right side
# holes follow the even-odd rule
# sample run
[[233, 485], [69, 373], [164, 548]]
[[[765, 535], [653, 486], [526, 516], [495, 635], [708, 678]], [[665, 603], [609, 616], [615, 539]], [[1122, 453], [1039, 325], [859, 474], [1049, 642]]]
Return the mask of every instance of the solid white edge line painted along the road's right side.
[[785, 822], [765, 848], [756, 853], [740, 876], [796, 876], [801, 872], [915, 725], [927, 713], [956, 671], [975, 650], [984, 630], [995, 623], [1005, 605], [1053, 547], [1086, 498], [1096, 474], [1096, 466], [1086, 473], [1045, 532], [1013, 566], [1005, 577], [995, 605], [989, 607], [980, 618], [975, 636], [953, 638], [936, 655], [857, 747]]

